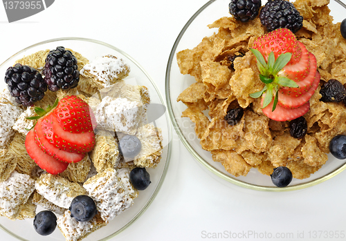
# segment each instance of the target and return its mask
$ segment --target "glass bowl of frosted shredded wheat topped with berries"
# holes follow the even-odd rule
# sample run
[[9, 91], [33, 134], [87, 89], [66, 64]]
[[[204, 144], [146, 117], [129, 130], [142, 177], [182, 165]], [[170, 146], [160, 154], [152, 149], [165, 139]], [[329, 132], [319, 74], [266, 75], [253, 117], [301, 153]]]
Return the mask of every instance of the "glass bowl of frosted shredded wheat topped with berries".
[[[19, 240], [109, 240], [145, 212], [163, 184], [172, 137], [163, 98], [136, 60], [94, 39], [51, 39], [12, 55], [0, 75], [1, 229]], [[49, 130], [61, 138], [56, 147], [43, 137]], [[95, 204], [82, 210], [93, 212], [79, 216], [73, 205], [86, 197]], [[57, 223], [48, 236], [41, 211], [56, 217], [46, 216]]]

